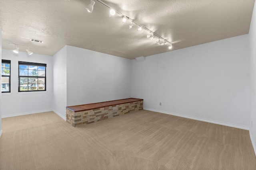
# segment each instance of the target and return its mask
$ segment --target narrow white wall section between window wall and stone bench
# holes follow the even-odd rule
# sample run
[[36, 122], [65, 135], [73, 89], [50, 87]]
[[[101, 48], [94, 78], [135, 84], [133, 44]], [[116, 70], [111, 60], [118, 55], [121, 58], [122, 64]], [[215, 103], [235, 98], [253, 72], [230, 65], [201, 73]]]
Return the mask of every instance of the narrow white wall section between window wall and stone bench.
[[66, 120], [67, 47], [53, 56], [53, 111]]

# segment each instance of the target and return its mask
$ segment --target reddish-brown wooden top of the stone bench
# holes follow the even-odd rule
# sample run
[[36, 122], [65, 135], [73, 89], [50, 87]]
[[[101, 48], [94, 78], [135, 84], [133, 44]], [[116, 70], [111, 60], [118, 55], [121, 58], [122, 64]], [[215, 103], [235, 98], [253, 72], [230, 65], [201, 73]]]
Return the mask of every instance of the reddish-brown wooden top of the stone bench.
[[74, 112], [78, 111], [85, 111], [85, 110], [91, 110], [91, 109], [97, 109], [100, 107], [106, 107], [106, 106], [113, 106], [117, 104], [125, 104], [130, 102], [138, 102], [142, 101], [143, 99], [136, 99], [136, 98], [128, 98], [128, 99], [121, 99], [121, 100], [112, 100], [108, 102], [100, 102], [100, 103], [92, 103], [92, 104], [83, 104], [83, 105], [77, 105], [77, 106], [68, 106], [67, 109], [70, 109]]

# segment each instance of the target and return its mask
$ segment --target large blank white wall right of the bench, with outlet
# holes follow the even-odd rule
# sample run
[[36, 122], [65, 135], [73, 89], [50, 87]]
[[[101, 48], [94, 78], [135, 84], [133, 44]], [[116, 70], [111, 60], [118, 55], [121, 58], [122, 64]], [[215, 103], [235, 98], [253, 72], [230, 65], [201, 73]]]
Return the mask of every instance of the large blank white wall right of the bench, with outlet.
[[241, 35], [132, 60], [132, 97], [144, 109], [248, 129], [248, 42]]

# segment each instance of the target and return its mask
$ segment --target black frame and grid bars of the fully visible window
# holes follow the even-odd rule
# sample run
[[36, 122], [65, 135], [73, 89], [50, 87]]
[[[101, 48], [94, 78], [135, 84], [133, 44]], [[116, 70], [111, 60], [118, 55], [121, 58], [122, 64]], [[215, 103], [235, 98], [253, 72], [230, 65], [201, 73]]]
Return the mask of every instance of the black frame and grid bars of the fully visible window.
[[[20, 65], [26, 65], [26, 66], [40, 66], [40, 67], [45, 67], [45, 76], [20, 76]], [[28, 69], [29, 70], [29, 69]], [[20, 78], [44, 78], [44, 90], [20, 90]], [[29, 84], [29, 83], [28, 83]], [[39, 84], [39, 83], [37, 83]], [[39, 89], [39, 85], [38, 85]], [[30, 62], [24, 62], [24, 61], [18, 61], [18, 92], [44, 92], [46, 91], [46, 64], [42, 63], [30, 63]]]

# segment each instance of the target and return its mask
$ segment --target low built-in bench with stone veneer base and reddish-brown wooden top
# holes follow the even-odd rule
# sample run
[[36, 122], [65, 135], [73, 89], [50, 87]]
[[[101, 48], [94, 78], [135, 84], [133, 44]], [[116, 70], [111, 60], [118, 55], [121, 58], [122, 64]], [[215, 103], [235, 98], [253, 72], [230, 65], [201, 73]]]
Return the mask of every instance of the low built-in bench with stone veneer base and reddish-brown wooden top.
[[128, 98], [66, 107], [66, 121], [73, 127], [143, 109], [143, 99]]

